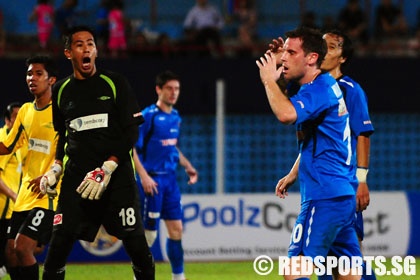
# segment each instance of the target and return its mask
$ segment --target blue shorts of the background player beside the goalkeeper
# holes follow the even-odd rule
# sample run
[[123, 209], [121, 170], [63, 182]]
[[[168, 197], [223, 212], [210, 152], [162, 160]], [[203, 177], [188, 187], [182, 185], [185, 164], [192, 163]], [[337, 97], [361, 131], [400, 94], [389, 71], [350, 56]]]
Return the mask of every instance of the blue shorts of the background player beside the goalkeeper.
[[141, 213], [144, 228], [157, 230], [159, 220], [182, 220], [181, 191], [175, 172], [152, 175], [158, 194], [146, 195], [140, 185]]

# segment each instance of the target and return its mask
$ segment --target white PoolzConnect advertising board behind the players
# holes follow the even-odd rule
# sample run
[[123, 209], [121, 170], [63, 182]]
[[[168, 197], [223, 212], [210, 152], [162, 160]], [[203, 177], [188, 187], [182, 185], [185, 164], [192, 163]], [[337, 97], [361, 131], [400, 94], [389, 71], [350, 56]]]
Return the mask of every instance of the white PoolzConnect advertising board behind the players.
[[[418, 201], [417, 201], [418, 200]], [[254, 260], [287, 255], [290, 235], [299, 213], [300, 195], [279, 199], [274, 194], [184, 195], [183, 246], [186, 260]], [[416, 206], [417, 205], [417, 206]], [[364, 254], [420, 254], [414, 238], [420, 217], [420, 194], [377, 192], [364, 212]], [[155, 242], [155, 258], [167, 259], [165, 227]]]

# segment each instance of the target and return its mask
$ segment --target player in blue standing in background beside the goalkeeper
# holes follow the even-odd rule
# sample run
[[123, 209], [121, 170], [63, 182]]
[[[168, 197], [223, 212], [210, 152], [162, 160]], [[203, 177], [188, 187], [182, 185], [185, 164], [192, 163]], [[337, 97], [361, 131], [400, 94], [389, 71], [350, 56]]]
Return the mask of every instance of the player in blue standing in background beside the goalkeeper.
[[[172, 267], [172, 279], [185, 279], [182, 249], [181, 193], [176, 181], [176, 168], [181, 164], [195, 184], [198, 173], [177, 146], [181, 117], [174, 108], [180, 93], [180, 78], [171, 71], [156, 77], [156, 104], [145, 108], [145, 122], [139, 127], [134, 163], [140, 177], [142, 213], [146, 239], [152, 246], [162, 218], [168, 230], [166, 248]], [[140, 159], [140, 160], [139, 160]]]

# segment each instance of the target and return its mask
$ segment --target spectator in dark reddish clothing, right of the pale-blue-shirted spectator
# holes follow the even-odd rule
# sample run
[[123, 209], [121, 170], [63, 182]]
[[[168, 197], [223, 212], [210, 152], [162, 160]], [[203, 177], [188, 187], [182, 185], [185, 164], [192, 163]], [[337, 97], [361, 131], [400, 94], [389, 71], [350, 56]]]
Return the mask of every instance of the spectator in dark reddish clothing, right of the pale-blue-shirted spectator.
[[239, 24], [238, 40], [240, 52], [252, 51], [257, 39], [257, 11], [253, 0], [239, 0], [233, 11], [233, 19]]

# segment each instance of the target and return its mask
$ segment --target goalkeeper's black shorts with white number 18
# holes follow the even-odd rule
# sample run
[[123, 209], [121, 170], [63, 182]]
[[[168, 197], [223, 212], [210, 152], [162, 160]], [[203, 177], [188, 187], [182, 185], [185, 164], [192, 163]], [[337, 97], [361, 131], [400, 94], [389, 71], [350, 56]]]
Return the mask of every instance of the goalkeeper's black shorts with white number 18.
[[[120, 168], [120, 167], [118, 167]], [[99, 200], [83, 199], [76, 192], [86, 174], [67, 165], [54, 218], [54, 233], [92, 242], [101, 225], [118, 239], [144, 234], [137, 185], [111, 181]]]

